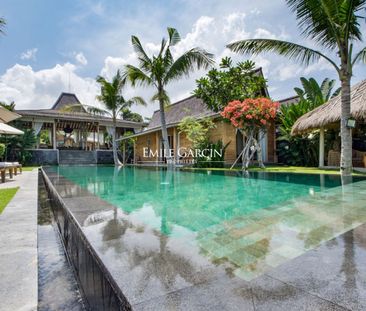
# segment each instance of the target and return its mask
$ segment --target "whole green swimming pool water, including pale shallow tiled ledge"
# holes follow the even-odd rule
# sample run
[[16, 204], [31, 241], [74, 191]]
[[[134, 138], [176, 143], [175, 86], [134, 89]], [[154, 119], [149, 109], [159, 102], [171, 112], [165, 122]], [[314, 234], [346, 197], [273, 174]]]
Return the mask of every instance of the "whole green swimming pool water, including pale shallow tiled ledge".
[[245, 280], [366, 222], [366, 181], [339, 176], [110, 166], [49, 168], [132, 224], [199, 247]]

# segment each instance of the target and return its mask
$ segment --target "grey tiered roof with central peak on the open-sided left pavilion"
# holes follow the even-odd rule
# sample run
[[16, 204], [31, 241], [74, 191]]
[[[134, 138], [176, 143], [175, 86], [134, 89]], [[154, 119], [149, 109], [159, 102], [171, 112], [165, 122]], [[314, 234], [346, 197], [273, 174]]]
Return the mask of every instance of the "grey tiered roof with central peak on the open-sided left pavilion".
[[[67, 111], [65, 110], [67, 106], [72, 106], [73, 108], [80, 106], [80, 110]], [[23, 118], [33, 118], [35, 120], [60, 119], [76, 122], [99, 122], [108, 125], [112, 124], [112, 118], [110, 117], [88, 113], [76, 95], [72, 93], [62, 93], [51, 109], [16, 110], [16, 113], [20, 114]], [[142, 125], [143, 123], [140, 122], [117, 119], [118, 127], [141, 128]]]

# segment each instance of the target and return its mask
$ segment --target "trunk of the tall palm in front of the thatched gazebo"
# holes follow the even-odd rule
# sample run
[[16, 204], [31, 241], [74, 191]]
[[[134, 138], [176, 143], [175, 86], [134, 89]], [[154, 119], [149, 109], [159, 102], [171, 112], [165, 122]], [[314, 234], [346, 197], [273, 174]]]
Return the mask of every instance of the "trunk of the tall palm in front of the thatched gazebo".
[[347, 128], [351, 117], [351, 78], [348, 74], [341, 76], [341, 175], [352, 175], [352, 129]]

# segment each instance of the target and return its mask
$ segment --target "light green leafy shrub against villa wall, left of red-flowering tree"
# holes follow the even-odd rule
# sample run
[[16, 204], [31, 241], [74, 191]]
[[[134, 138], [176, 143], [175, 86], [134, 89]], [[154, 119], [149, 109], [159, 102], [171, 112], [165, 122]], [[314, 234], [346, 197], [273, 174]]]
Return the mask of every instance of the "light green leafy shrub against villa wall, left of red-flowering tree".
[[200, 144], [207, 140], [210, 129], [215, 128], [215, 124], [210, 118], [198, 120], [194, 117], [184, 117], [178, 125], [178, 130], [184, 133], [192, 143], [193, 148], [198, 148]]

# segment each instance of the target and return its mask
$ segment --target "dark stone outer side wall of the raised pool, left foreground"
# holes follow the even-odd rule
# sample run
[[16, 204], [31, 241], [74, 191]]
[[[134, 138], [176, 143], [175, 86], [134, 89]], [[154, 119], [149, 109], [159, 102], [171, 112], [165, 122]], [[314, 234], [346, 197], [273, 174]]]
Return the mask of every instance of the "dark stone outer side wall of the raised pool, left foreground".
[[48, 176], [43, 169], [41, 172], [66, 255], [89, 310], [132, 310]]

